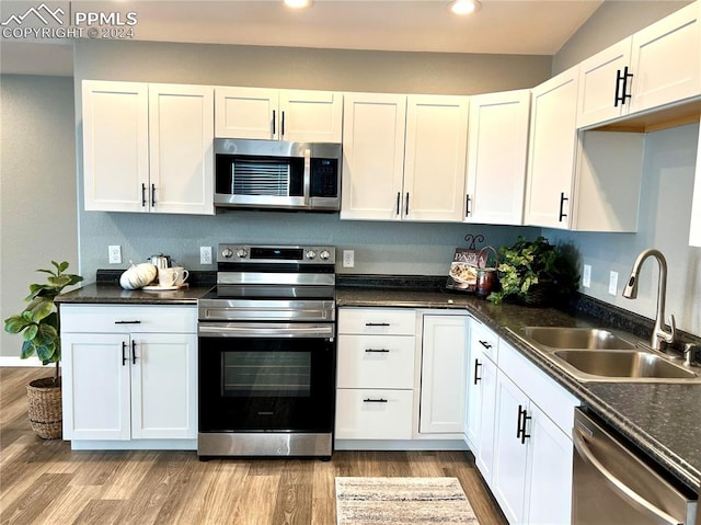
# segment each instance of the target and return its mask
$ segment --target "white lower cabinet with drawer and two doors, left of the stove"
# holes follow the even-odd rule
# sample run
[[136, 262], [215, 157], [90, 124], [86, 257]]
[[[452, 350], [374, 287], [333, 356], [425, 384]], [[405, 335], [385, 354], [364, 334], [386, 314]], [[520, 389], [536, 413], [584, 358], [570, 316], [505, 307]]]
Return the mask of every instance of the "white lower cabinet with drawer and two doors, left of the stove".
[[194, 440], [195, 307], [61, 305], [64, 438]]

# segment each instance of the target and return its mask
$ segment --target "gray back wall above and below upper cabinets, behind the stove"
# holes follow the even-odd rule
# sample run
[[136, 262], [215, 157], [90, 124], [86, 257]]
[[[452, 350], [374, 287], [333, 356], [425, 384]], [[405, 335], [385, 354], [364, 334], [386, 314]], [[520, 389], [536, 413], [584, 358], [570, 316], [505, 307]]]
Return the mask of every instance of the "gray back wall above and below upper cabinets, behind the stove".
[[[400, 93], [480, 93], [528, 88], [550, 76], [551, 57], [380, 53], [196, 44], [85, 41], [76, 49], [82, 79], [252, 85]], [[80, 109], [77, 107], [80, 136]], [[79, 145], [80, 148], [80, 145]], [[82, 172], [79, 156], [79, 174]], [[82, 181], [82, 175], [79, 175]], [[82, 194], [82, 182], [79, 184]], [[82, 212], [81, 271], [110, 267], [107, 246], [124, 264], [163, 252], [194, 270], [199, 247], [219, 242], [329, 243], [356, 250], [356, 267], [338, 272], [445, 275], [468, 232], [510, 243], [532, 228], [455, 224], [341, 221], [337, 214], [227, 212], [214, 217]]]

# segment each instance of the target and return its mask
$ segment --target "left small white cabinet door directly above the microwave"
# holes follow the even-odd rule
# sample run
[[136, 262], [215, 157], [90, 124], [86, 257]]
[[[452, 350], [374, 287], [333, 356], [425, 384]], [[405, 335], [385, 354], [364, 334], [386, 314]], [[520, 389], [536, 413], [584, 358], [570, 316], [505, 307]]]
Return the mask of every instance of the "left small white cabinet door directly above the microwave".
[[217, 138], [278, 139], [278, 90], [216, 88]]

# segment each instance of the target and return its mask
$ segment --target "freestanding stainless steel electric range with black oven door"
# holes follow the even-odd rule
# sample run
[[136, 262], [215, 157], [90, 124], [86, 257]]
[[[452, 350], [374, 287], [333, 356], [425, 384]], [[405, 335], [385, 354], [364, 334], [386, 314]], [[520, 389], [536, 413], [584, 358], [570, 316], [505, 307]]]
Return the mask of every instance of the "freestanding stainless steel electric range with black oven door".
[[330, 458], [335, 249], [220, 244], [198, 303], [197, 454]]

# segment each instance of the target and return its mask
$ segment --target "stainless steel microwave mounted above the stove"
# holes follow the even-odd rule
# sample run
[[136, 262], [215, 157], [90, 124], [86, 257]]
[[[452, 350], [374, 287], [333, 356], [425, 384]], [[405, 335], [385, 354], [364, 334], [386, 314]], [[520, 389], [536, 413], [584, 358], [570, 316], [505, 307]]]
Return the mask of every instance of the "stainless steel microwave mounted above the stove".
[[336, 212], [341, 145], [215, 139], [215, 207]]

